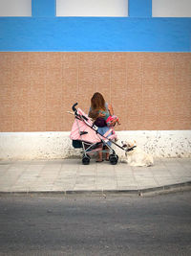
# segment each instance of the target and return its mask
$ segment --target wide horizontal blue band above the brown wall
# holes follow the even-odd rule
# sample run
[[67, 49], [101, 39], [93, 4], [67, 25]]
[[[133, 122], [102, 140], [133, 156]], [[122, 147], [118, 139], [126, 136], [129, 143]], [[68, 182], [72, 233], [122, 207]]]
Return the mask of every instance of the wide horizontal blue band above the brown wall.
[[0, 51], [191, 52], [191, 18], [1, 17]]

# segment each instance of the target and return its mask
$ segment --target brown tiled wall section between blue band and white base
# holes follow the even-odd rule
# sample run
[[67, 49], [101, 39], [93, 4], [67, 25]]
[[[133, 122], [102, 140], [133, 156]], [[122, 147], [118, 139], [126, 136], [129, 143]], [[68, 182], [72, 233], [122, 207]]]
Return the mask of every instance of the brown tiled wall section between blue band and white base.
[[191, 128], [190, 53], [0, 53], [0, 131], [71, 130], [94, 92], [124, 129]]

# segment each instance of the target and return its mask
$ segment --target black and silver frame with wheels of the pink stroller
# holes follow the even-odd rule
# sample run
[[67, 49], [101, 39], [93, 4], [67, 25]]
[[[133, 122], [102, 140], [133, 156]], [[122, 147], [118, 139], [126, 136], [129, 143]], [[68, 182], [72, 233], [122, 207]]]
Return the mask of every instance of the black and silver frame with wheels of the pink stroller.
[[[99, 134], [102, 138], [104, 139], [107, 139], [108, 141], [110, 141], [111, 143], [115, 144], [118, 148], [120, 148], [121, 150], [123, 151], [127, 151], [125, 150], [124, 148], [122, 148], [121, 146], [119, 146], [115, 141], [113, 141], [112, 139], [110, 138], [107, 138], [105, 137], [104, 135], [100, 134], [98, 131], [97, 131], [97, 127], [96, 125], [93, 124], [93, 126], [90, 126], [88, 124], [88, 122], [86, 123], [86, 121], [88, 121], [87, 117], [84, 116], [84, 115], [80, 115], [77, 113], [77, 109], [75, 108], [75, 106], [77, 105], [77, 103], [75, 103], [73, 106], [72, 106], [72, 109], [74, 111], [74, 116], [75, 116], [75, 119], [78, 119], [82, 122], [84, 122], [89, 128], [92, 128], [93, 130], [96, 131], [97, 134]], [[86, 131], [81, 131], [80, 128], [79, 128], [79, 125], [78, 125], [78, 122], [77, 122], [77, 128], [78, 128], [78, 132], [79, 132], [79, 136], [81, 138], [81, 140], [78, 140], [79, 143], [81, 143], [81, 147], [78, 147], [78, 148], [82, 148], [83, 151], [83, 155], [82, 155], [82, 163], [84, 165], [88, 165], [90, 163], [90, 153], [94, 153], [98, 146], [99, 145], [104, 145], [106, 144], [108, 150], [100, 150], [102, 152], [109, 152], [110, 155], [109, 155], [109, 161], [112, 165], [116, 165], [117, 164], [117, 161], [118, 161], [118, 155], [116, 153], [116, 151], [114, 151], [114, 149], [112, 149], [112, 147], [110, 145], [108, 145], [101, 137], [100, 138], [100, 142], [96, 142], [96, 143], [89, 143], [89, 142], [86, 142], [86, 141], [83, 141], [82, 139], [82, 135], [83, 134], [86, 134]], [[98, 149], [97, 149], [98, 151]], [[128, 150], [129, 151], [129, 150]]]

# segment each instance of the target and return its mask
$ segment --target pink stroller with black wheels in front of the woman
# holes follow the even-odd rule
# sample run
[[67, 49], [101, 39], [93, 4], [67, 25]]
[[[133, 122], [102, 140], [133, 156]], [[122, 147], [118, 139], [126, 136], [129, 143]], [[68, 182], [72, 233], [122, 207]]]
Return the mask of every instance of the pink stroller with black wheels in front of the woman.
[[73, 140], [74, 149], [82, 148], [82, 163], [88, 165], [90, 163], [90, 154], [96, 151], [103, 151], [103, 145], [107, 145], [108, 150], [103, 152], [110, 152], [109, 161], [111, 164], [116, 165], [118, 156], [112, 147], [107, 144], [109, 141], [115, 144], [118, 148], [125, 151], [124, 148], [117, 145], [114, 141], [116, 134], [114, 130], [109, 129], [104, 135], [101, 135], [97, 131], [96, 125], [80, 108], [75, 108], [74, 104], [72, 109], [74, 111], [74, 125], [71, 131], [70, 138]]

